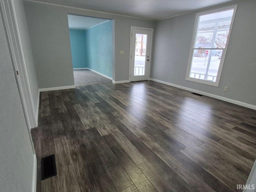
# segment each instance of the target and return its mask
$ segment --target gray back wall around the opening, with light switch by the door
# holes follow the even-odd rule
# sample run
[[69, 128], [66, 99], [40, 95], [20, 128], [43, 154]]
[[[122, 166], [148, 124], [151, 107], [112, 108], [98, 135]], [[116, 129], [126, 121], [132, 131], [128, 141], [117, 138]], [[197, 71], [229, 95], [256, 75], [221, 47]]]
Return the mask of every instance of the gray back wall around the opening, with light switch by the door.
[[[155, 22], [78, 8], [24, 2], [39, 88], [74, 85], [68, 30], [68, 14], [115, 21], [113, 80], [129, 79], [130, 28], [154, 28]], [[119, 54], [124, 50], [124, 54]]]

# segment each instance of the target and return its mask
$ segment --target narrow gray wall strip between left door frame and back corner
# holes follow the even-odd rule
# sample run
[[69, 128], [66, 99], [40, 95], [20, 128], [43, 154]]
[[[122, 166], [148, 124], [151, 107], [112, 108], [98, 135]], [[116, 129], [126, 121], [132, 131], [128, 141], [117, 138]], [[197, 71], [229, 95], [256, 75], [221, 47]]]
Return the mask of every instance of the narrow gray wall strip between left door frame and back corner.
[[[34, 106], [34, 114], [36, 116], [38, 110], [38, 80], [36, 76], [36, 68], [32, 54], [30, 38], [28, 34], [28, 25], [22, 0], [14, 0], [14, 12], [17, 16], [17, 29], [20, 32], [20, 44], [24, 52], [24, 63], [26, 65], [26, 75], [32, 96], [32, 105]], [[37, 116], [36, 116], [37, 118]]]

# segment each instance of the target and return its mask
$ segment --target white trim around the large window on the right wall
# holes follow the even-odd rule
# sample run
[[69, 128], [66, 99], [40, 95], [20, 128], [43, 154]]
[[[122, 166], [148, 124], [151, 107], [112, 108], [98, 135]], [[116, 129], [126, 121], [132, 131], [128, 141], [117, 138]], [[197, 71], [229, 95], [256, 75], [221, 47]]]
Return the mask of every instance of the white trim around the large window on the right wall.
[[[190, 77], [190, 69], [191, 69], [191, 65], [192, 65], [193, 51], [194, 51], [193, 48], [194, 48], [194, 41], [196, 40], [196, 32], [197, 32], [199, 16], [202, 16], [202, 15], [205, 15], [205, 14], [211, 14], [211, 13], [214, 13], [214, 12], [220, 12], [220, 11], [224, 11], [224, 10], [230, 10], [230, 9], [234, 9], [234, 13], [233, 13], [233, 16], [232, 16], [230, 29], [229, 29], [230, 34], [228, 35], [226, 47], [223, 49], [223, 52], [222, 52], [222, 57], [220, 59], [220, 66], [219, 66], [218, 74], [217, 74], [217, 77], [216, 77], [216, 82], [191, 78]], [[186, 73], [186, 80], [193, 81], [193, 82], [198, 82], [198, 83], [202, 83], [202, 84], [207, 84], [207, 85], [211, 85], [211, 86], [216, 86], [216, 87], [219, 86], [220, 76], [221, 76], [221, 73], [222, 73], [222, 68], [223, 68], [223, 64], [224, 64], [224, 61], [225, 61], [226, 52], [227, 52], [227, 49], [228, 49], [228, 42], [229, 42], [229, 39], [230, 39], [230, 36], [231, 36], [231, 33], [232, 33], [232, 27], [233, 27], [234, 18], [235, 18], [235, 15], [236, 15], [236, 9], [237, 9], [237, 5], [233, 5], [233, 6], [228, 6], [228, 7], [224, 7], [224, 8], [215, 9], [215, 10], [200, 12], [200, 13], [196, 14], [196, 21], [195, 21], [195, 24], [194, 24], [193, 38], [192, 38], [192, 43], [191, 43], [191, 47], [190, 47], [190, 54], [189, 54], [188, 68], [187, 68], [187, 73]], [[218, 49], [218, 48], [214, 48], [214, 50], [216, 50], [216, 49]]]

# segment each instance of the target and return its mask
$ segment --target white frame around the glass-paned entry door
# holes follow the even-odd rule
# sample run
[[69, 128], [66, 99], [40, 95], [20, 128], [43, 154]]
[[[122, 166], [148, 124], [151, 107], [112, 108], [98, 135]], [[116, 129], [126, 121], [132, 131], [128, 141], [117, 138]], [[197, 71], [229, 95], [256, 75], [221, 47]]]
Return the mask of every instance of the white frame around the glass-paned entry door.
[[144, 27], [135, 27], [131, 26], [131, 32], [130, 32], [130, 68], [129, 68], [129, 82], [131, 82], [131, 66], [132, 66], [132, 29], [142, 29], [142, 30], [150, 30], [151, 31], [151, 42], [150, 42], [150, 59], [148, 64], [148, 80], [150, 79], [150, 66], [151, 66], [151, 57], [152, 57], [152, 42], [153, 42], [153, 29], [152, 28], [144, 28]]

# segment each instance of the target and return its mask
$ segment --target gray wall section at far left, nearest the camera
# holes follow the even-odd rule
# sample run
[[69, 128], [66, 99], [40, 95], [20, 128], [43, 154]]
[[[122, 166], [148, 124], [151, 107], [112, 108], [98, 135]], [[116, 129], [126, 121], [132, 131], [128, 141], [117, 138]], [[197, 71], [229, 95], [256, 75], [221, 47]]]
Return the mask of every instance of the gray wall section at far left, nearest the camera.
[[33, 151], [0, 14], [0, 191], [32, 191]]

